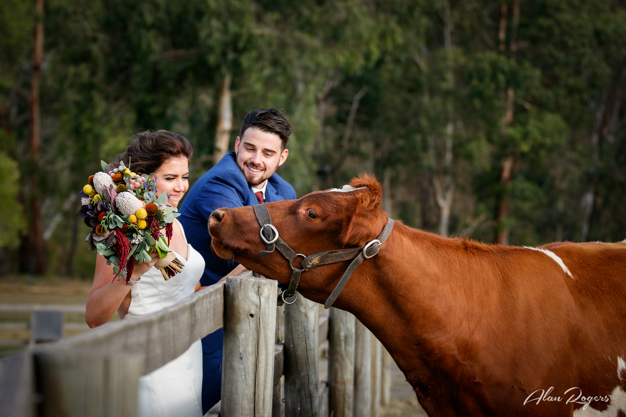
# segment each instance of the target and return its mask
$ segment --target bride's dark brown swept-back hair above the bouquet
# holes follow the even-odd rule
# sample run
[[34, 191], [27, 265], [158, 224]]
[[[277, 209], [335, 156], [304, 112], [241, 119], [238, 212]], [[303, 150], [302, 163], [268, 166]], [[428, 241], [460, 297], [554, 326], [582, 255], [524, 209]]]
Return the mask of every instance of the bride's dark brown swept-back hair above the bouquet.
[[126, 166], [130, 164], [135, 173], [151, 174], [168, 159], [184, 156], [190, 161], [192, 154], [193, 148], [184, 136], [167, 130], [146, 130], [133, 134], [126, 151], [116, 159]]

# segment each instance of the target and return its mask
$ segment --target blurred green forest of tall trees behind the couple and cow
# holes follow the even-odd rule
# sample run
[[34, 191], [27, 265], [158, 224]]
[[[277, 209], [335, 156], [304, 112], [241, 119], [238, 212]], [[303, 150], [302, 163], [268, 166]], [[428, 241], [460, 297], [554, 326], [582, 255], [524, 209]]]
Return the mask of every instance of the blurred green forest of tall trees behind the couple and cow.
[[90, 278], [76, 193], [138, 129], [193, 145], [285, 109], [302, 196], [364, 171], [404, 223], [486, 243], [626, 238], [626, 4], [3, 0], [0, 274]]

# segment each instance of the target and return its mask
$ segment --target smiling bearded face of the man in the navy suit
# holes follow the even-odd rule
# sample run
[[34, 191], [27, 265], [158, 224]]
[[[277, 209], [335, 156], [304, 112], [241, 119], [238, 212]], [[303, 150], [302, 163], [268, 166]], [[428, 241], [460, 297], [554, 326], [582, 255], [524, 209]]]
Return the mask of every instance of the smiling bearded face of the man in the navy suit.
[[247, 128], [235, 140], [237, 165], [251, 186], [263, 184], [287, 159], [289, 151], [282, 149], [280, 136], [259, 128]]

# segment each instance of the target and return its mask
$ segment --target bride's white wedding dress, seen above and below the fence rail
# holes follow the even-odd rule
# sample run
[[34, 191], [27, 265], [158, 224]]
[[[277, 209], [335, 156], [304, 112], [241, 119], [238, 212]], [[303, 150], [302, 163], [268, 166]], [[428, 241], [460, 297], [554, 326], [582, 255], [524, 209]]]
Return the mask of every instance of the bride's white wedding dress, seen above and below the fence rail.
[[[185, 243], [185, 231], [178, 223]], [[187, 244], [187, 259], [178, 255], [184, 265], [169, 281], [152, 267], [131, 289], [131, 301], [126, 318], [145, 316], [160, 311], [187, 298], [195, 290], [204, 271], [204, 259]], [[163, 335], [167, 338], [167, 334]], [[146, 346], [150, 349], [150, 346]], [[139, 417], [202, 417], [202, 344], [195, 341], [178, 358], [139, 378]]]

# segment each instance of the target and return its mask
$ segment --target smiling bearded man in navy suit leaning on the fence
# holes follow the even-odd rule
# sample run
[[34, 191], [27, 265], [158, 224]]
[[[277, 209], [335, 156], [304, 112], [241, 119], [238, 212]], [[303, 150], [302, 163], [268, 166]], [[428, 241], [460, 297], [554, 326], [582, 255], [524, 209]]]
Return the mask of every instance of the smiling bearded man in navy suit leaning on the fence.
[[[289, 155], [285, 146], [290, 134], [291, 126], [280, 111], [251, 111], [235, 140], [235, 151], [225, 154], [187, 194], [178, 220], [187, 231], [188, 243], [204, 258], [202, 286], [217, 283], [237, 266], [219, 258], [211, 248], [207, 222], [213, 210], [295, 199], [294, 188], [276, 174]], [[222, 329], [202, 339], [202, 413], [220, 400], [222, 343]]]

